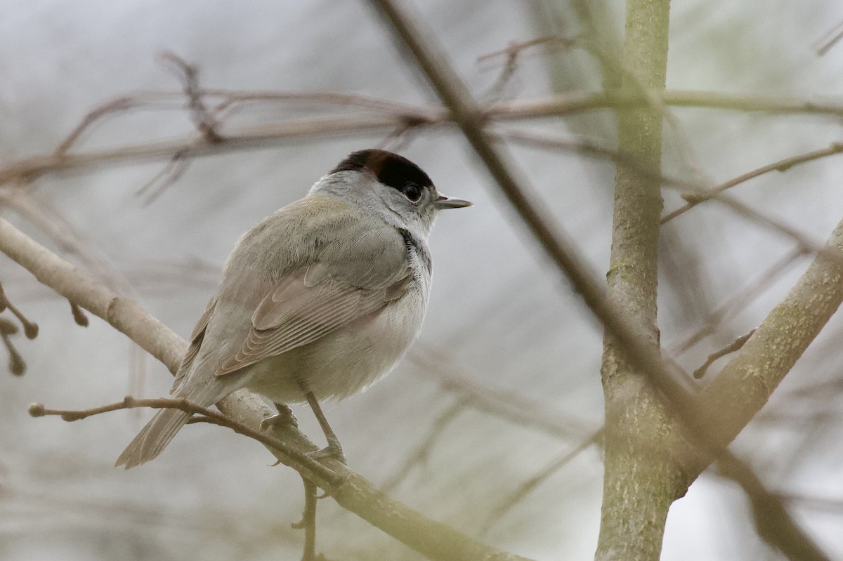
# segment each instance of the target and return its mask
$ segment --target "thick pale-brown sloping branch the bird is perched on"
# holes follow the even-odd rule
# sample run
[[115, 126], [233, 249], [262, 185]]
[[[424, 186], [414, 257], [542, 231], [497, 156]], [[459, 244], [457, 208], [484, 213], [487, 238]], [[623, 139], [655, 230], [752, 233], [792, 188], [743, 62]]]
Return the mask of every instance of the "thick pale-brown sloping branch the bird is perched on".
[[[71, 302], [105, 319], [112, 327], [126, 334], [144, 350], [175, 372], [187, 348], [187, 343], [171, 329], [150, 316], [132, 300], [121, 297], [106, 286], [79, 272], [72, 264], [52, 254], [33, 239], [0, 218], [0, 251], [29, 270], [35, 278], [66, 297]], [[242, 423], [250, 430], [259, 431], [260, 421], [271, 415], [261, 398], [239, 390], [217, 403], [229, 419]], [[272, 435], [286, 442], [287, 446], [302, 453], [314, 451], [317, 446], [293, 427], [273, 429]], [[277, 453], [282, 462], [290, 458]], [[292, 467], [297, 468], [293, 463]], [[342, 484], [335, 486], [314, 478], [336, 502], [357, 516], [379, 527], [405, 545], [433, 559], [464, 561], [469, 559], [495, 559], [496, 561], [522, 561], [524, 558], [504, 553], [496, 548], [457, 532], [454, 528], [432, 521], [387, 494], [376, 489], [362, 475], [352, 472], [339, 462], [327, 461], [328, 467], [340, 474]]]

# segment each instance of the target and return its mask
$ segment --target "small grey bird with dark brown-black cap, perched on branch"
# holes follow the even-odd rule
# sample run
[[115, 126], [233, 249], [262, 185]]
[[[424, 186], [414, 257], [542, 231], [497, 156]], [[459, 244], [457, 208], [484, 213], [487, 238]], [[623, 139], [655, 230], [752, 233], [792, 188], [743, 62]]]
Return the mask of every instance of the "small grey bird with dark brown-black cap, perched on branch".
[[[464, 206], [407, 158], [353, 152], [239, 239], [170, 393], [207, 407], [246, 387], [280, 422], [307, 402], [328, 441], [317, 455], [344, 462], [319, 401], [368, 387], [405, 354], [427, 312], [427, 236], [438, 211]], [[158, 457], [190, 417], [161, 409], [115, 465]]]

